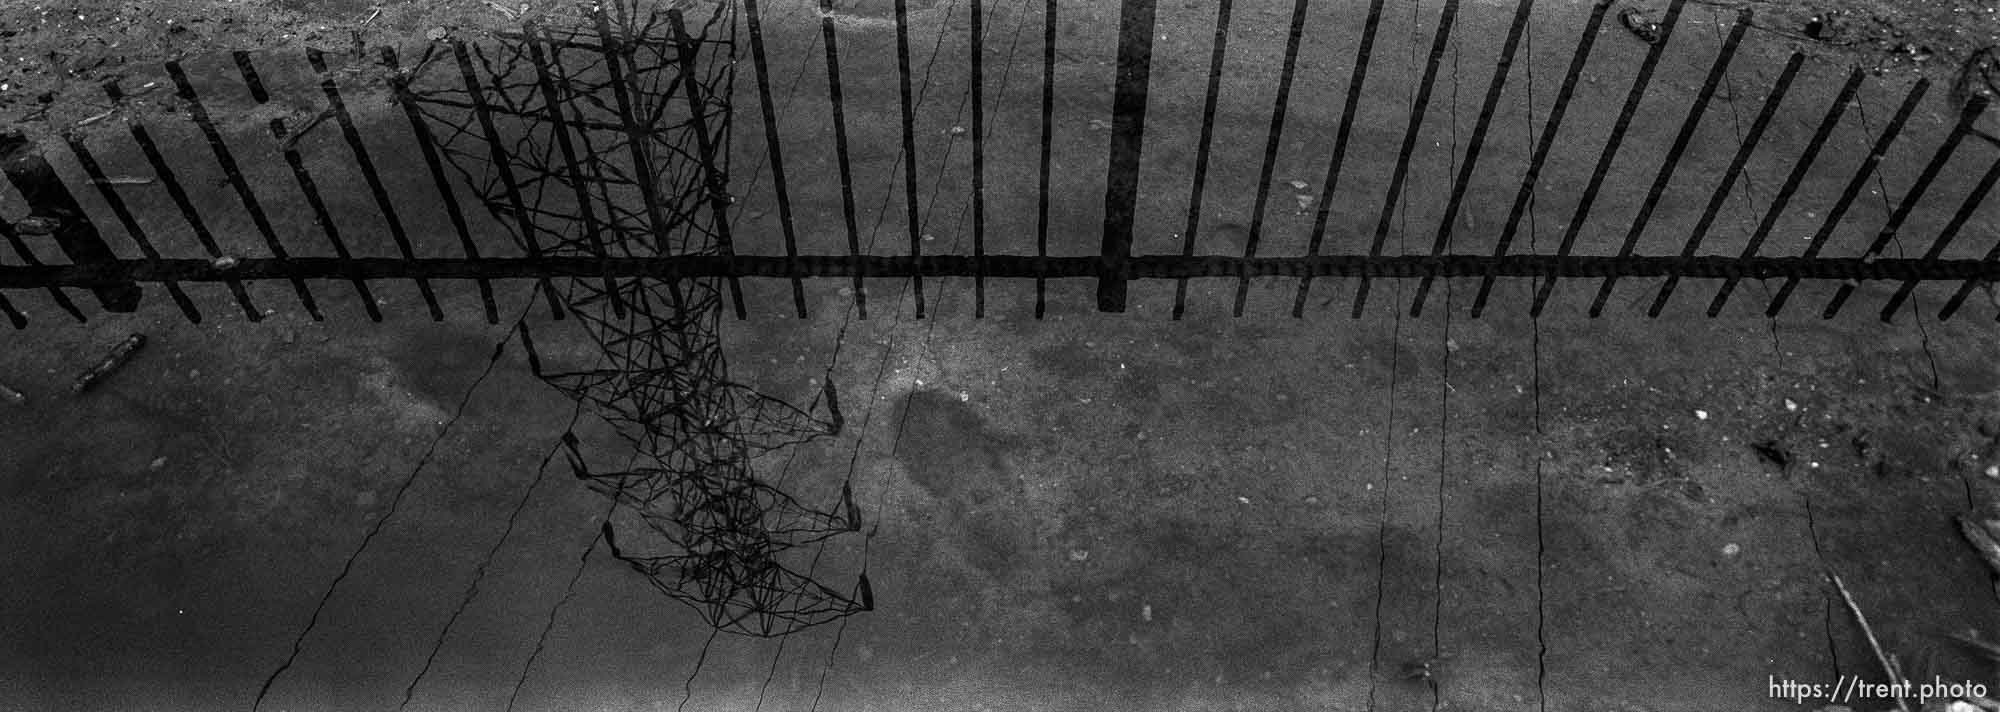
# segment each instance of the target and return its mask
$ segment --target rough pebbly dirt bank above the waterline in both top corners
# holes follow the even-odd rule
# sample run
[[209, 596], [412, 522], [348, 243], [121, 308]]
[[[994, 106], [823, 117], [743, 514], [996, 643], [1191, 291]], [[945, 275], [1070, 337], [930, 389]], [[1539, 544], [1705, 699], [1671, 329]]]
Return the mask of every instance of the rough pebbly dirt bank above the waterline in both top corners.
[[[1578, 2], [1578, 0], [1560, 0]], [[848, 2], [834, 2], [836, 10]], [[1800, 50], [1880, 74], [1958, 82], [1976, 72], [1974, 90], [2000, 82], [1994, 0], [1694, 0], [1696, 6], [1750, 8], [1756, 26], [1790, 38]], [[1626, 0], [1654, 18], [1662, 0]], [[522, 20], [560, 22], [576, 4], [480, 0], [156, 0], [156, 2], [10, 2], [0, 8], [0, 116], [20, 120], [38, 102], [84, 92], [118, 78], [130, 64], [158, 64], [218, 50], [320, 48], [356, 42], [412, 44], [516, 28]], [[1972, 62], [1968, 66], [1968, 62]], [[146, 68], [150, 72], [150, 68]]]

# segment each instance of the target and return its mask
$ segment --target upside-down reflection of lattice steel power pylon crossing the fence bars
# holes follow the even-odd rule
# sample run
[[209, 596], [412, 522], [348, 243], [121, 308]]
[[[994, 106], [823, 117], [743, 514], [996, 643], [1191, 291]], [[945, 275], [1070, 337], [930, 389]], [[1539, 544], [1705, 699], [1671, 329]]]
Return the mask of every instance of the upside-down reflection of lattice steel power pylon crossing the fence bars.
[[[590, 30], [528, 26], [500, 44], [454, 44], [398, 82], [444, 162], [474, 186], [528, 260], [730, 258], [728, 96], [732, 4], [596, 12]], [[844, 594], [794, 560], [798, 548], [860, 530], [852, 498], [812, 508], [752, 474], [750, 460], [838, 432], [728, 380], [718, 338], [734, 276], [540, 278], [558, 320], [600, 346], [596, 364], [536, 372], [618, 428], [634, 448], [620, 472], [574, 472], [642, 528], [612, 552], [662, 592], [730, 632], [776, 636], [872, 606], [866, 574]], [[524, 334], [530, 334], [524, 328]]]

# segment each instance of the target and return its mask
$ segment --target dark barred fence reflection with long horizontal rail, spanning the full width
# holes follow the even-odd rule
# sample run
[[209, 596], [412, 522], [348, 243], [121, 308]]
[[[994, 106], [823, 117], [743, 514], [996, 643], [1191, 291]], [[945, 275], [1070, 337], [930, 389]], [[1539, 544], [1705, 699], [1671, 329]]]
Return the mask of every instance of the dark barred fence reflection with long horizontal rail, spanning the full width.
[[[432, 280], [472, 280], [484, 318], [498, 322], [492, 282], [534, 280], [538, 298], [562, 318], [564, 290], [550, 284], [558, 278], [594, 280], [574, 286], [588, 288], [578, 298], [618, 316], [646, 288], [638, 282], [722, 280], [736, 318], [752, 312], [746, 278], [790, 282], [798, 316], [808, 314], [804, 280], [840, 280], [864, 318], [870, 292], [882, 288], [866, 280], [884, 278], [906, 280], [918, 316], [926, 278], [972, 280], [976, 316], [996, 280], [1032, 280], [1036, 316], [1046, 280], [1094, 280], [1104, 312], [1126, 310], [1132, 280], [1174, 280], [1174, 318], [1186, 312], [1196, 278], [1234, 280], [1238, 316], [1250, 278], [1296, 280], [1292, 316], [1304, 314], [1316, 278], [1354, 278], [1346, 302], [1360, 316], [1372, 280], [1418, 280], [1408, 308], [1420, 314], [1434, 280], [1480, 278], [1478, 316], [1494, 280], [1538, 280], [1532, 310], [1540, 314], [1562, 280], [1590, 278], [1562, 284], [1596, 292], [1590, 316], [1600, 316], [1620, 280], [1654, 280], [1624, 284], [1648, 294], [1648, 316], [1674, 306], [1674, 290], [1702, 288], [1688, 280], [1718, 280], [1714, 294], [1678, 302], [1706, 306], [1708, 316], [1720, 314], [1740, 280], [1782, 280], [1768, 314], [1782, 312], [1806, 282], [1838, 282], [1822, 316], [1836, 316], [1862, 282], [1896, 282], [1882, 308], [1888, 318], [1912, 306], [1916, 288], [1942, 282], [1952, 296], [1936, 314], [1950, 318], [1972, 290], [2000, 282], [1988, 200], [2000, 160], [1980, 130], [1986, 98], [1934, 92], [1930, 82], [1870, 92], [1862, 70], [1814, 74], [1796, 52], [1782, 68], [1746, 68], [1744, 58], [1756, 54], [1748, 10], [1708, 14], [1716, 28], [1704, 36], [1696, 24], [1706, 10], [1674, 0], [1662, 32], [1636, 44], [1610, 20], [1610, 2], [1564, 14], [1534, 2], [1462, 8], [1442, 0], [1412, 18], [1420, 22], [1396, 28], [1398, 16], [1380, 0], [1334, 10], [1122, 0], [1116, 14], [1096, 18], [1116, 32], [1066, 40], [1056, 32], [1060, 2], [972, 2], [970, 16], [956, 18], [958, 10], [898, 4], [892, 20], [882, 18], [894, 26], [890, 42], [868, 30], [882, 20], [848, 24], [830, 6], [818, 14], [756, 2], [700, 6], [710, 10], [682, 36], [666, 24], [644, 34], [588, 20], [404, 54], [308, 50], [298, 62], [234, 52], [206, 74], [170, 62], [154, 82], [178, 100], [166, 116], [128, 106], [142, 94], [130, 88], [138, 78], [110, 82], [112, 122], [90, 136], [80, 126], [42, 142], [0, 132], [6, 180], [24, 200], [0, 200], [8, 242], [0, 316], [28, 324], [12, 296], [46, 298], [84, 320], [64, 290], [88, 290], [98, 308], [130, 312], [156, 286], [198, 322], [184, 282], [222, 282], [250, 320], [272, 308], [324, 318], [314, 292], [328, 286], [308, 282], [340, 282], [370, 320], [382, 320], [374, 284], [408, 282], [428, 316], [442, 320], [454, 314]], [[1290, 8], [1280, 46], [1230, 44], [1254, 30], [1240, 20], [1248, 8], [1272, 16]], [[1580, 34], [1566, 28], [1578, 22]], [[1480, 26], [1504, 26], [1504, 42], [1460, 56]], [[1548, 28], [1558, 36], [1546, 36]], [[1172, 54], [1156, 46], [1162, 34], [1202, 38], [1204, 54]], [[750, 58], [742, 66], [754, 70], [754, 86], [740, 92], [728, 80], [742, 58], [738, 36]], [[1542, 90], [1524, 72], [1536, 64], [1520, 52], [1524, 38], [1568, 50], [1544, 62]], [[1380, 46], [1392, 40], [1412, 42], [1410, 52]], [[1682, 54], [1692, 58], [1668, 52], [1690, 42], [1696, 50]], [[1328, 56], [1352, 56], [1352, 66], [1314, 66]], [[1246, 68], [1260, 60], [1270, 62]], [[310, 70], [300, 82], [270, 62]], [[1618, 62], [1610, 72], [1596, 66], [1600, 80], [1610, 78], [1608, 94], [1594, 98], [1610, 130], [1578, 134], [1592, 124], [1580, 118], [1590, 102], [1580, 78], [1602, 62]], [[1744, 82], [1750, 72], [1756, 80]], [[650, 84], [640, 88], [640, 76]], [[1684, 78], [1690, 96], [1666, 94], [1668, 76]], [[1252, 120], [1242, 120], [1238, 94], [1260, 82], [1276, 90], [1252, 92]], [[926, 94], [958, 100], [958, 114]], [[1204, 98], [1200, 110], [1176, 104], [1186, 96]], [[306, 106], [306, 118], [230, 126], [236, 114], [286, 98]], [[1936, 100], [1948, 108], [1922, 110]], [[1232, 102], [1236, 118], [1228, 118]], [[1400, 114], [1370, 118], [1370, 104], [1400, 106]], [[1322, 112], [1330, 106], [1338, 116]], [[1020, 114], [996, 118], [1006, 112]], [[862, 124], [862, 114], [886, 122]], [[164, 144], [186, 132], [176, 122], [198, 138]], [[1162, 122], [1186, 126], [1162, 130]], [[122, 130], [104, 130], [116, 124]], [[1376, 136], [1350, 142], [1356, 126]], [[1638, 148], [1648, 130], [1658, 150]], [[1034, 150], [1002, 154], [1000, 140]], [[1446, 140], [1448, 150], [1430, 148]], [[1230, 156], [1226, 146], [1250, 150]], [[134, 152], [146, 170], [120, 178], [118, 154]], [[1058, 166], [1064, 154], [1076, 164]], [[740, 166], [744, 158], [752, 166]], [[196, 178], [216, 170], [212, 184]], [[1574, 196], [1548, 194], [1558, 174], [1588, 180], [1578, 180]], [[1284, 192], [1294, 192], [1296, 212]], [[162, 210], [168, 198], [172, 210]], [[960, 226], [942, 224], [940, 198], [958, 202], [968, 240]], [[1620, 200], [1636, 204], [1636, 214], [1610, 216]], [[1162, 206], [1170, 208], [1164, 220]], [[222, 210], [248, 220], [224, 224]], [[1686, 218], [1668, 220], [1666, 210]], [[766, 214], [776, 220], [758, 222]], [[1214, 214], [1238, 222], [1218, 224]], [[1476, 226], [1474, 214], [1482, 214]], [[930, 244], [932, 232], [946, 230], [950, 242]], [[1238, 236], [1226, 250], [1202, 242], [1230, 230]], [[1740, 236], [1724, 234], [1732, 230]], [[192, 232], [196, 244], [164, 232]], [[1560, 240], [1540, 246], [1536, 232]], [[876, 244], [878, 234], [908, 240], [906, 252]], [[1172, 244], [1162, 240], [1168, 234]], [[1786, 234], [1804, 242], [1780, 242]], [[646, 248], [634, 250], [640, 242]], [[286, 282], [294, 294], [262, 294], [254, 304], [244, 284], [258, 280]], [[692, 286], [672, 290], [680, 288]]]

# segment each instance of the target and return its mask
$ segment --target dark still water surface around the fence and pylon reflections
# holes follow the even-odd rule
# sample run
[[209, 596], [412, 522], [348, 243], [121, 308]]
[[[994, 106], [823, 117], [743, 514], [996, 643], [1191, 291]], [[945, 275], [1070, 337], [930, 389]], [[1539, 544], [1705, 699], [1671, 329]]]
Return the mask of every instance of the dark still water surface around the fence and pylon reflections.
[[[968, 252], [968, 118], [964, 10], [914, 4], [916, 38], [940, 42], [918, 126], [920, 186], [942, 200], [922, 226], [926, 252]], [[988, 250], [1034, 250], [1032, 150], [1038, 130], [1034, 8], [988, 4], [988, 32], [1026, 22], [1022, 54], [992, 42]], [[882, 6], [840, 24], [854, 122], [854, 190], [872, 252], [898, 254], [898, 164], [892, 26]], [[1242, 250], [1252, 222], [1270, 92], [1288, 4], [1240, 2], [1212, 194], [1196, 252]], [[1402, 138], [1410, 80], [1420, 72], [1436, 4], [1396, 6], [1382, 20], [1376, 76], [1356, 120], [1330, 244], [1364, 250]], [[1512, 186], [1548, 112], [1588, 8], [1544, 2], [1520, 62], [1532, 64], [1500, 104], [1468, 192], [1456, 248], [1492, 248]], [[818, 24], [802, 6], [770, 8], [780, 134], [808, 252], [844, 252], [840, 180], [824, 112]], [[1316, 194], [1338, 124], [1360, 6], [1314, 6], [1302, 50], [1276, 200], [1260, 254], [1304, 250], [1310, 212], [1290, 180]], [[1426, 252], [1464, 136], [1498, 52], [1492, 28], [1512, 6], [1468, 2], [1426, 140], [1412, 156], [1408, 200], [1390, 254]], [[1688, 10], [1686, 44], [1662, 62], [1654, 92], [1614, 162], [1580, 254], [1618, 248], [1672, 142], [1688, 96], [1720, 44], [1716, 12]], [[1204, 34], [1204, 28], [1208, 28]], [[1138, 252], [1178, 252], [1212, 10], [1162, 8], [1154, 74], [1158, 150], [1142, 170]], [[1096, 250], [1102, 146], [1090, 124], [1108, 112], [1106, 48], [1116, 12], [1064, 8], [1052, 254]], [[1562, 234], [1624, 98], [1644, 44], [1606, 26], [1602, 56], [1578, 84], [1564, 146], [1544, 170], [1530, 234], [1518, 252], [1548, 252]], [[1068, 50], [1066, 50], [1068, 52]], [[794, 64], [796, 62], [796, 64]], [[1706, 186], [1734, 152], [1736, 114], [1754, 112], [1784, 48], [1748, 40], [1730, 98], [1710, 108], [1646, 254], [1672, 252], [1698, 218]], [[312, 212], [260, 134], [268, 116], [318, 110], [296, 56], [262, 66], [272, 106], [232, 88], [226, 58], [190, 62], [210, 112], [242, 154], [272, 220], [300, 250], [318, 244]], [[738, 106], [754, 106], [748, 68]], [[1798, 112], [1770, 128], [1712, 228], [1716, 254], [1742, 248], [1788, 150], [1810, 136], [1844, 68], [1808, 64]], [[998, 82], [998, 80], [996, 80]], [[1770, 254], [1794, 254], [1860, 162], [1900, 88], [1870, 84], [1840, 126], [1838, 152], [1802, 184]], [[424, 202], [428, 176], [386, 94], [348, 98], [424, 254], [450, 254], [444, 218]], [[294, 106], [296, 104], [296, 106]], [[1742, 104], [1742, 106], [1738, 106]], [[268, 116], [266, 116], [268, 114]], [[1926, 104], [1882, 180], [1848, 212], [1826, 254], [1862, 244], [1916, 178], [1948, 108]], [[174, 156], [202, 156], [176, 114], [140, 116]], [[736, 166], [758, 166], [756, 112], [738, 112]], [[1568, 138], [1572, 136], [1574, 138]], [[146, 174], [122, 128], [88, 140], [114, 174]], [[102, 148], [96, 148], [102, 146]], [[392, 256], [378, 208], [360, 190], [336, 134], [302, 142], [356, 252]], [[1990, 160], [1968, 146], [1904, 228], [1930, 236]], [[76, 166], [52, 160], [76, 180]], [[184, 160], [190, 186], [232, 252], [260, 250], [254, 226], [204, 160]], [[206, 168], [206, 170], [212, 170]], [[738, 168], [740, 174], [762, 176]], [[780, 254], [768, 176], [746, 178], [738, 250]], [[1030, 186], [1022, 190], [1020, 186]], [[134, 210], [172, 214], [158, 192], [122, 188]], [[90, 206], [98, 198], [80, 190]], [[430, 210], [426, 210], [430, 208]], [[878, 222], [880, 218], [880, 222]], [[498, 236], [488, 218], [484, 234]], [[180, 222], [162, 220], [160, 242]], [[1982, 208], [1974, 228], [1992, 228]], [[116, 236], [116, 224], [106, 226]], [[1336, 240], [1338, 238], [1338, 240]], [[1482, 242], [1484, 240], [1484, 242]], [[498, 240], [496, 240], [498, 242]], [[1782, 242], [1782, 244], [1780, 244]], [[128, 240], [114, 240], [118, 246]], [[1920, 244], [1920, 242], [1916, 242]], [[1960, 240], [1958, 252], [1984, 250]], [[124, 250], [124, 248], [122, 248]], [[1328, 248], [1332, 252], [1334, 248]], [[1706, 252], [1704, 252], [1706, 254]], [[134, 256], [134, 254], [128, 254]], [[812, 316], [788, 316], [788, 286], [748, 280], [750, 320], [724, 322], [732, 376], [780, 398], [810, 400], [812, 378], [842, 388], [848, 430], [810, 444], [784, 472], [790, 490], [854, 496], [870, 522], [866, 552], [838, 548], [828, 570], [872, 578], [878, 610], [792, 638], [710, 638], [598, 550], [584, 560], [604, 500], [560, 460], [546, 470], [572, 402], [536, 382], [506, 326], [478, 320], [464, 284], [440, 286], [452, 320], [426, 322], [412, 288], [378, 284], [390, 320], [368, 324], [358, 296], [316, 288], [326, 322], [300, 314], [284, 284], [252, 286], [272, 308], [250, 324], [220, 286], [196, 288], [204, 324], [186, 324], [158, 294], [138, 314], [62, 324], [32, 292], [10, 292], [36, 320], [0, 348], [0, 380], [28, 394], [0, 408], [0, 706], [64, 710], [244, 708], [284, 660], [350, 552], [394, 516], [332, 592], [298, 664], [268, 708], [386, 708], [404, 700], [444, 620], [478, 578], [410, 708], [542, 710], [1716, 710], [1794, 708], [1776, 678], [1872, 676], [1874, 662], [1822, 572], [1838, 572], [1884, 644], [1952, 676], [1990, 676], [1940, 634], [1986, 630], [1996, 606], [1950, 516], [1990, 498], [1978, 472], [1994, 456], [1990, 314], [1974, 304], [1952, 322], [1934, 310], [1952, 286], [1924, 286], [1894, 324], [1872, 318], [1892, 290], [1866, 284], [1836, 320], [1808, 314], [1830, 284], [1806, 284], [1796, 306], [1764, 318], [1776, 284], [1742, 284], [1718, 318], [1708, 288], [1684, 284], [1678, 306], [1644, 316], [1654, 286], [1628, 280], [1602, 318], [1584, 312], [1596, 280], [1562, 280], [1540, 320], [1534, 284], [1500, 282], [1486, 314], [1466, 314], [1476, 278], [1440, 280], [1422, 316], [1414, 282], [1376, 280], [1362, 318], [1348, 318], [1354, 280], [1320, 280], [1308, 314], [1288, 316], [1294, 282], [1258, 280], [1248, 316], [1232, 318], [1234, 280], [1194, 280], [1184, 320], [1170, 320], [1172, 282], [1136, 282], [1128, 314], [1098, 314], [1090, 284], [1052, 282], [1036, 320], [1032, 282], [990, 280], [986, 318], [972, 318], [968, 280], [932, 280], [916, 320], [900, 282], [868, 284], [872, 316], [850, 320], [842, 280], [808, 282]], [[504, 318], [532, 310], [526, 284], [506, 284]], [[128, 332], [150, 346], [102, 388], [70, 396], [70, 374]], [[498, 352], [494, 344], [508, 342]], [[544, 352], [582, 352], [560, 338]], [[488, 364], [494, 368], [486, 372]], [[484, 374], [484, 376], [482, 376]], [[1786, 400], [1796, 404], [1792, 410]], [[1700, 410], [1706, 416], [1696, 416]], [[596, 436], [604, 436], [596, 432]], [[1780, 442], [1778, 468], [1752, 444]], [[428, 454], [428, 456], [426, 456]], [[412, 470], [416, 476], [412, 478]], [[412, 482], [398, 500], [398, 488]], [[524, 518], [484, 562], [506, 512]], [[564, 598], [578, 574], [572, 598]], [[842, 574], [844, 576], [844, 574]], [[840, 578], [836, 578], [840, 580]], [[544, 622], [556, 624], [522, 672]], [[696, 670], [696, 662], [700, 668]]]

